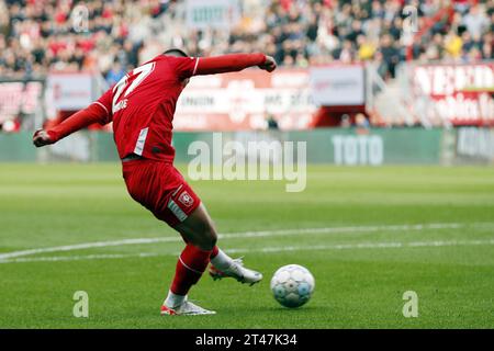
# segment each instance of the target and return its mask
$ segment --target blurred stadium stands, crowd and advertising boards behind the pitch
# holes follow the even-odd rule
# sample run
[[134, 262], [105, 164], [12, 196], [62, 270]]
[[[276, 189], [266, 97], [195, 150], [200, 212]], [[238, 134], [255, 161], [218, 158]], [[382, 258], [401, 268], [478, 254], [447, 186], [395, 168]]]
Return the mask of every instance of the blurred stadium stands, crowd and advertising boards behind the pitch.
[[194, 78], [173, 122], [188, 132], [178, 161], [221, 131], [306, 139], [313, 162], [491, 163], [493, 29], [492, 1], [2, 0], [0, 160], [116, 159], [111, 126], [48, 151], [26, 138], [181, 47], [265, 52], [281, 68]]

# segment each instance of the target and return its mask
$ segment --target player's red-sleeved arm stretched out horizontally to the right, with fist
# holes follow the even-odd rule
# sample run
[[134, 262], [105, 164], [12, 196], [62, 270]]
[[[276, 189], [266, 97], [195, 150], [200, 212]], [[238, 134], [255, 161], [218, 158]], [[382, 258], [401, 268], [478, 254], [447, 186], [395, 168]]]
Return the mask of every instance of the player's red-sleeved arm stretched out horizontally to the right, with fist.
[[198, 60], [195, 75], [236, 72], [255, 66], [267, 70], [268, 72], [272, 72], [277, 68], [277, 63], [271, 56], [261, 53], [201, 57]]

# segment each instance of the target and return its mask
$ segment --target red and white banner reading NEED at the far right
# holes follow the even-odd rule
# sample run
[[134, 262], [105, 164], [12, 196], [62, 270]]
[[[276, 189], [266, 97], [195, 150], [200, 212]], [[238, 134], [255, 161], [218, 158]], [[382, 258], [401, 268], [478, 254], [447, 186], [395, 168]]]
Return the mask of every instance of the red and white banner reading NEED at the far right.
[[420, 65], [415, 97], [431, 100], [430, 117], [453, 125], [494, 125], [494, 63]]

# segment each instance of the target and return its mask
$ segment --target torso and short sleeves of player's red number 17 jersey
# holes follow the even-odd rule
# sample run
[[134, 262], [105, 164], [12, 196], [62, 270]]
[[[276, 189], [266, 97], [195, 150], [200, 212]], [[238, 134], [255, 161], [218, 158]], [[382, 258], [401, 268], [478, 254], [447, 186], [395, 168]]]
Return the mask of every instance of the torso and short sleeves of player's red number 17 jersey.
[[120, 158], [136, 154], [172, 162], [172, 121], [182, 80], [198, 68], [198, 58], [159, 55], [135, 68], [96, 103], [113, 121], [113, 137]]

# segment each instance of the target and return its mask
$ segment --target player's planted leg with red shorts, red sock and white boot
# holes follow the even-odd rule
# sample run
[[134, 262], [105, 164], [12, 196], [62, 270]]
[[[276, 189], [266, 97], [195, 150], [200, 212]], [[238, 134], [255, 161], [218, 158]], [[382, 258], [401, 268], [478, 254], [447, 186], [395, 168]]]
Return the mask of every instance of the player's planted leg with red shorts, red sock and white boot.
[[[123, 177], [131, 196], [171, 227], [186, 222], [201, 204], [183, 177], [170, 163], [151, 160], [124, 162]], [[190, 224], [190, 220], [187, 223]], [[216, 234], [206, 224], [194, 228], [181, 233], [187, 246], [177, 262], [170, 293], [161, 306], [164, 315], [214, 313], [187, 301], [187, 293], [206, 269], [216, 242]]]

